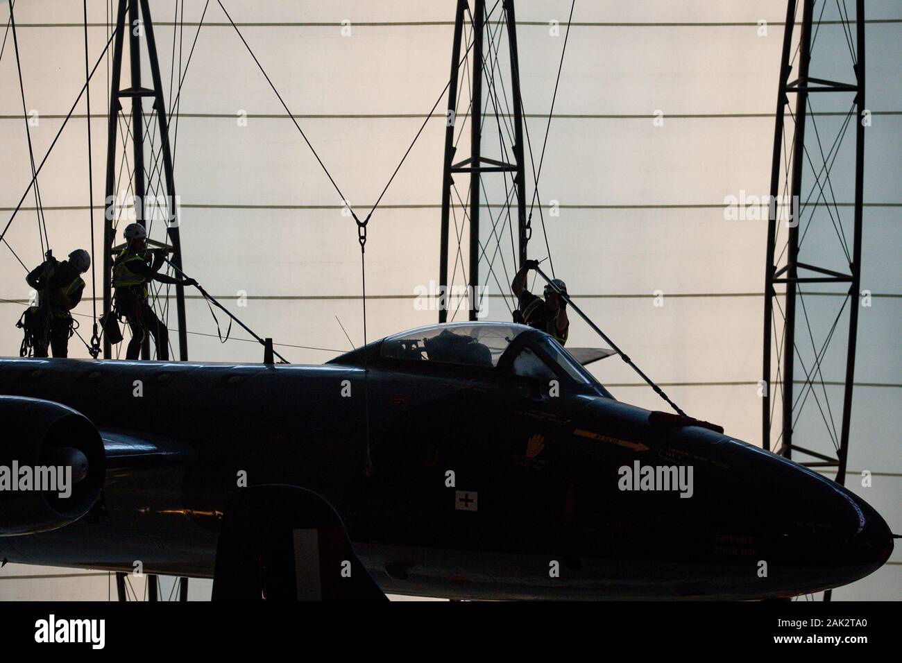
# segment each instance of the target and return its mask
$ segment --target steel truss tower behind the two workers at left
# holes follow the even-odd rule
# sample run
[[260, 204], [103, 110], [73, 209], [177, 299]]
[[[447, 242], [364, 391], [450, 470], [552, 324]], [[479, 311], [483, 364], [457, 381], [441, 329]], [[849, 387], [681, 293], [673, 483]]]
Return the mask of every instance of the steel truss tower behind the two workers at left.
[[[126, 25], [126, 14], [128, 14], [128, 23]], [[131, 71], [130, 87], [121, 88], [120, 78], [122, 74], [122, 57], [123, 42], [125, 35], [128, 35], [129, 44], [129, 64]], [[142, 36], [146, 42], [147, 59], [150, 62], [152, 87], [142, 86]], [[111, 308], [112, 299], [112, 274], [113, 259], [119, 248], [115, 247], [115, 231], [116, 231], [116, 214], [115, 209], [111, 208], [111, 201], [116, 200], [117, 173], [116, 173], [116, 134], [119, 130], [119, 115], [123, 113], [122, 100], [124, 98], [131, 100], [131, 129], [132, 136], [132, 154], [133, 154], [133, 173], [129, 182], [129, 188], [133, 191], [134, 211], [138, 223], [145, 227], [152, 223], [152, 216], [148, 214], [148, 205], [150, 202], [155, 205], [160, 199], [165, 199], [165, 215], [166, 215], [166, 233], [169, 240], [168, 244], [149, 241], [149, 244], [160, 246], [170, 253], [170, 261], [179, 269], [181, 268], [181, 243], [179, 241], [179, 220], [177, 218], [175, 181], [172, 175], [172, 154], [170, 152], [169, 140], [169, 122], [167, 118], [166, 105], [163, 101], [163, 87], [160, 75], [160, 61], [157, 57], [157, 46], [153, 36], [153, 23], [151, 19], [151, 10], [148, 0], [119, 0], [119, 8], [116, 13], [116, 31], [115, 44], [113, 51], [113, 68], [112, 81], [110, 89], [110, 109], [109, 109], [109, 125], [108, 125], [108, 143], [106, 147], [106, 221], [104, 224], [104, 313]], [[143, 100], [149, 98], [152, 100], [151, 115], [156, 117], [157, 127], [160, 131], [160, 148], [156, 158], [145, 161], [144, 146], [146, 136], [145, 129], [145, 109]], [[128, 140], [128, 136], [123, 137], [123, 142]], [[152, 144], [152, 143], [151, 143]], [[148, 197], [149, 184], [152, 188], [152, 180], [154, 174], [159, 178], [157, 161], [162, 161], [163, 188], [165, 193], [163, 198], [157, 195], [159, 187]], [[148, 171], [146, 166], [150, 163], [151, 170]], [[113, 203], [115, 204], [115, 203]], [[148, 228], [149, 229], [149, 228]], [[122, 228], [120, 227], [121, 231]], [[176, 292], [176, 312], [179, 321], [179, 359], [186, 361], [188, 359], [188, 332], [185, 324], [185, 290], [182, 286], [175, 286]], [[144, 339], [142, 356], [144, 359], [150, 356], [149, 339]], [[111, 346], [109, 338], [104, 336], [104, 357], [109, 359], [111, 355]]]

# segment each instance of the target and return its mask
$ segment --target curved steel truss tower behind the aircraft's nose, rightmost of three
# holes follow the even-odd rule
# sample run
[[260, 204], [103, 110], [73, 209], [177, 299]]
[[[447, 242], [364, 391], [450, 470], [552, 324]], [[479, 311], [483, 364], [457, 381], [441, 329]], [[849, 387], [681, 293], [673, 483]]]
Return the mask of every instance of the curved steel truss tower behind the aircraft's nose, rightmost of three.
[[[841, 0], [842, 8], [841, 2], [837, 2], [838, 21], [826, 20], [824, 2], [825, 0], [788, 0], [787, 5], [770, 179], [771, 198], [764, 288], [764, 365], [761, 383], [762, 442], [764, 448], [774, 447], [775, 451], [783, 456], [805, 458], [803, 465], [835, 467], [836, 481], [842, 484], [845, 481], [849, 451], [852, 381], [855, 373], [855, 345], [861, 305], [859, 295], [864, 130], [870, 123], [864, 97], [864, 0], [855, 0], [855, 16], [852, 19], [845, 9], [845, 0]], [[799, 7], [802, 14], [800, 24], [796, 22]], [[821, 48], [813, 58], [818, 33], [821, 33], [822, 41], [829, 43], [818, 43]], [[794, 54], [793, 46], [796, 41]], [[836, 65], [835, 61], [831, 60], [836, 59], [838, 54], [842, 55], [842, 66]], [[847, 69], [844, 65], [846, 58], [849, 60]], [[815, 66], [822, 65], [824, 60], [830, 60], [829, 67], [833, 69], [828, 70], [835, 70], [843, 77], [842, 80], [816, 78], [811, 75], [810, 71]], [[815, 104], [832, 102], [833, 106], [828, 108], [830, 112], [814, 112], [813, 100]], [[843, 111], [849, 106], [848, 113], [833, 112], [837, 104], [842, 104]], [[789, 131], [787, 131], [787, 113], [792, 123], [788, 125]], [[843, 115], [844, 121], [840, 120], [842, 126], [839, 127], [835, 139], [830, 134], [826, 135], [824, 140], [826, 132], [823, 124], [831, 121], [830, 116], [842, 118]], [[854, 132], [848, 132], [849, 135], [854, 135], [853, 163], [851, 154], [840, 153], [842, 138], [851, 128], [850, 124], [854, 124]], [[830, 145], [829, 150], [826, 148], [827, 145]], [[844, 171], [840, 176], [841, 180], [835, 178], [831, 180], [831, 170], [839, 169]], [[851, 181], [852, 172], [853, 181]], [[851, 205], [849, 202], [837, 202], [837, 189], [847, 190], [849, 197], [853, 198]], [[789, 206], [788, 223], [780, 218], [778, 211], [780, 206], [775, 204], [781, 199]], [[797, 201], [795, 207], [794, 201]], [[851, 251], [846, 238], [849, 226], [843, 226], [843, 219], [848, 220], [850, 216]], [[842, 249], [842, 256], [833, 262], [828, 261], [829, 252], [824, 251], [825, 243], [822, 242], [818, 246], [815, 239], [803, 244], [805, 235], [815, 226], [827, 228], [829, 235], [831, 223], [839, 240], [838, 246]], [[819, 232], [815, 229], [813, 235]], [[836, 254], [839, 255], [839, 252]], [[833, 288], [830, 288], [831, 285]], [[819, 297], [815, 298], [815, 295]], [[824, 324], [811, 318], [809, 314], [813, 308], [813, 299], [820, 299], [822, 302], [833, 301], [837, 296], [844, 297], [842, 308], [833, 320], [832, 327], [829, 323], [824, 327]], [[782, 305], [781, 300], [784, 302]], [[838, 327], [843, 309], [846, 307], [849, 315], [849, 333], [845, 350], [840, 415], [842, 423], [837, 431], [834, 410], [827, 397], [826, 378], [822, 373], [822, 366], [827, 347], [833, 339], [833, 332]], [[782, 334], [777, 329], [778, 316], [785, 320]], [[802, 348], [809, 345], [809, 340], [814, 356], [805, 362]], [[833, 369], [838, 372], [841, 370], [842, 358], [838, 358], [837, 361], [838, 364]], [[771, 372], [775, 364], [776, 376]], [[799, 384], [802, 385], [801, 389], [796, 390]], [[809, 438], [805, 437], [805, 431], [796, 430], [799, 428], [799, 415], [805, 402], [809, 404], [811, 410], [812, 400], [815, 401], [817, 409], [821, 410], [827, 433], [833, 441], [833, 449], [811, 448], [815, 446], [812, 444], [815, 439], [809, 441]], [[796, 433], [802, 438], [796, 439], [798, 437]], [[822, 436], [825, 437], [827, 436]], [[799, 442], [803, 444], [800, 445]]]

